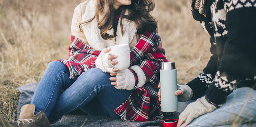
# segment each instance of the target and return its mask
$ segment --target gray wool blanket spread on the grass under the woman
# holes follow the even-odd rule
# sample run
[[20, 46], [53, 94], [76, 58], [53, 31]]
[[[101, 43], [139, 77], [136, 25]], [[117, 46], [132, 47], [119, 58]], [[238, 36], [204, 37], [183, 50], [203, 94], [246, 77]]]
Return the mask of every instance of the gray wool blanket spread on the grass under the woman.
[[[37, 85], [38, 83], [31, 83], [17, 88], [21, 92], [17, 109], [18, 118], [21, 107], [30, 104]], [[174, 112], [164, 119], [177, 119], [178, 115], [179, 113]], [[87, 115], [83, 111], [77, 110], [64, 115], [61, 120], [52, 124], [51, 127], [162, 127], [162, 121], [128, 122], [108, 116]]]

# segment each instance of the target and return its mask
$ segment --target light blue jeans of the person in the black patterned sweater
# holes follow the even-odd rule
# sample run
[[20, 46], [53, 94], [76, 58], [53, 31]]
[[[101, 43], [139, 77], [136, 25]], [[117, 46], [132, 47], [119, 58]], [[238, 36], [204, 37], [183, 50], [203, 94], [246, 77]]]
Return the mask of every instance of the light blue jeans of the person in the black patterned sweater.
[[[181, 108], [178, 112], [182, 112], [191, 102], [179, 102], [178, 108]], [[187, 127], [256, 127], [256, 90], [234, 90], [223, 106], [195, 118]]]

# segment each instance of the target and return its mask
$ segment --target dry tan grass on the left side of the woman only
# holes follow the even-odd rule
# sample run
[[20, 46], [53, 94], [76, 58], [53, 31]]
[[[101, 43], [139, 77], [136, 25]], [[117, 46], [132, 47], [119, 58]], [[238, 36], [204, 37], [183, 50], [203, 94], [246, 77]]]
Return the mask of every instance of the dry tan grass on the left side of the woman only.
[[5, 96], [9, 90], [38, 82], [49, 62], [68, 57], [71, 19], [79, 2], [0, 0], [0, 87], [5, 89], [0, 111], [8, 120], [17, 118], [9, 111], [17, 111], [18, 102], [18, 96]]

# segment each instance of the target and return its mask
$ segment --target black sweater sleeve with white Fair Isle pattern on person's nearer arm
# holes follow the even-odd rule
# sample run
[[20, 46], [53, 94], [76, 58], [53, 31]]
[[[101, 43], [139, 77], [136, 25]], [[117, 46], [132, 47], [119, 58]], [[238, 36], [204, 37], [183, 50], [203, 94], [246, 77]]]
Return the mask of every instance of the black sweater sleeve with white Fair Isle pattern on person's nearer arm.
[[[240, 81], [252, 80], [252, 87], [256, 80], [256, 0], [224, 0], [222, 8], [218, 4], [211, 6], [215, 38], [225, 45], [215, 79], [206, 91], [206, 99], [215, 105], [223, 104]], [[220, 31], [221, 27], [227, 28]]]

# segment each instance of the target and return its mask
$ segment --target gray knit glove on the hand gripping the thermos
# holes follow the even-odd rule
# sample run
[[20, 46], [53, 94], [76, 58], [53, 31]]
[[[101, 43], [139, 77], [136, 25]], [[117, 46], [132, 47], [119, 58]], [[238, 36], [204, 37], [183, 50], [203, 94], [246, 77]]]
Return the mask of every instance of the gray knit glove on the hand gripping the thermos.
[[188, 85], [177, 84], [178, 90], [182, 90], [182, 93], [178, 96], [178, 102], [187, 102], [191, 100], [193, 91]]

